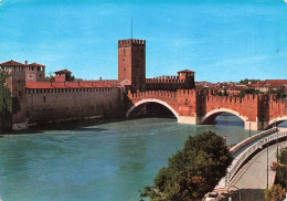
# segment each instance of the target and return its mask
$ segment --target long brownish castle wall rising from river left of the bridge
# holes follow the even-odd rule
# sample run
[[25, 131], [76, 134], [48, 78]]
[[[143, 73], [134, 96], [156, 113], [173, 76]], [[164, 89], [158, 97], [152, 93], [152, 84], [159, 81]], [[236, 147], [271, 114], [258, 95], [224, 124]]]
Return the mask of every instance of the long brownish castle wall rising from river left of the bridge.
[[50, 123], [120, 112], [120, 88], [26, 89], [28, 124]]

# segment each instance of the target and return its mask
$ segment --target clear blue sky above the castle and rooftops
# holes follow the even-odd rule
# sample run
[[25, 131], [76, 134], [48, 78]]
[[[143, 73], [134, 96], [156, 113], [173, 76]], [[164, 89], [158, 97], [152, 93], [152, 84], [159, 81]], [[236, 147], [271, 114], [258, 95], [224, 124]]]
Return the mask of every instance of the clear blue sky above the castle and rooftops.
[[147, 77], [287, 78], [284, 0], [0, 0], [0, 62], [117, 78], [117, 40], [147, 41]]

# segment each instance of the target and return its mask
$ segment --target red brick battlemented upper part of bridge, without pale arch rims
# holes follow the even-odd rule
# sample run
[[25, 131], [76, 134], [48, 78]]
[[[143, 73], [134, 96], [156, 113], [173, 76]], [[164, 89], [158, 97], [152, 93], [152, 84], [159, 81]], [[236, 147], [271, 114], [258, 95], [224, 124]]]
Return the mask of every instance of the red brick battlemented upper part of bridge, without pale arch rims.
[[276, 116], [287, 116], [287, 103], [279, 102], [269, 95], [217, 96], [212, 91], [179, 89], [146, 91], [129, 93], [129, 98], [136, 104], [147, 98], [157, 98], [169, 104], [180, 116], [203, 117], [217, 108], [237, 112], [247, 121], [268, 121]]

